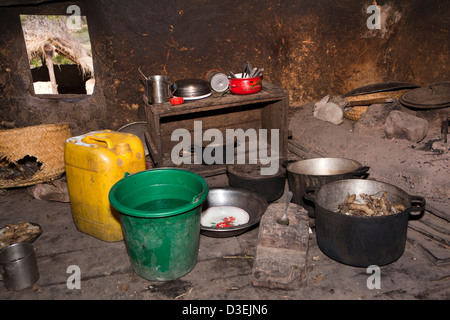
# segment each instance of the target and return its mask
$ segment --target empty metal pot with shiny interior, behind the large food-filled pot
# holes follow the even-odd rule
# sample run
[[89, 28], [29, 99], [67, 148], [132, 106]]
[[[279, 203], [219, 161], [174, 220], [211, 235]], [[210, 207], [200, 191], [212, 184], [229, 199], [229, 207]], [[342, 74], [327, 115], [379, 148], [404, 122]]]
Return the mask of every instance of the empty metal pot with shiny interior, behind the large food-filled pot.
[[319, 188], [329, 182], [366, 177], [370, 167], [345, 158], [313, 158], [287, 164], [289, 190], [292, 202], [301, 205], [310, 217], [314, 217], [313, 203], [304, 198], [308, 188]]

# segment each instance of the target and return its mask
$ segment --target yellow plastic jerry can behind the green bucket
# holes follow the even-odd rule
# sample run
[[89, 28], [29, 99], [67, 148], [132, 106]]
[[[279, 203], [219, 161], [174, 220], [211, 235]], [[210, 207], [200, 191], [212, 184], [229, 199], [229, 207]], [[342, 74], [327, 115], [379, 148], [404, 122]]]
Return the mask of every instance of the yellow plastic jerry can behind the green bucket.
[[126, 172], [146, 169], [139, 137], [103, 130], [69, 138], [64, 146], [64, 162], [78, 231], [104, 241], [123, 240], [119, 214], [111, 207], [108, 194]]

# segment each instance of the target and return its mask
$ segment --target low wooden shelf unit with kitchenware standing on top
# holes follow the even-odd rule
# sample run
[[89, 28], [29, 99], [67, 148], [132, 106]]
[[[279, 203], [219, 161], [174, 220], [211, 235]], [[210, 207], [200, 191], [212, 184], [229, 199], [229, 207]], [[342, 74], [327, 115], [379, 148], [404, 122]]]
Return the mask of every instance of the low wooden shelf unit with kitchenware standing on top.
[[[213, 94], [204, 99], [185, 101], [173, 106], [170, 102], [150, 104], [143, 96], [147, 119], [146, 144], [155, 167], [175, 166], [170, 159], [172, 148], [179, 141], [171, 141], [175, 129], [184, 128], [193, 136], [194, 121], [202, 121], [202, 131], [219, 129], [225, 139], [226, 129], [249, 128], [279, 130], [279, 155], [287, 157], [289, 95], [283, 88], [263, 81], [263, 90], [251, 95], [231, 93]], [[192, 138], [191, 138], [192, 139]], [[270, 135], [268, 137], [270, 141]], [[192, 139], [193, 143], [193, 139]], [[200, 170], [220, 173], [225, 165], [196, 165]], [[192, 167], [192, 165], [183, 165]], [[199, 169], [199, 168], [197, 168]], [[198, 171], [198, 170], [197, 170]]]

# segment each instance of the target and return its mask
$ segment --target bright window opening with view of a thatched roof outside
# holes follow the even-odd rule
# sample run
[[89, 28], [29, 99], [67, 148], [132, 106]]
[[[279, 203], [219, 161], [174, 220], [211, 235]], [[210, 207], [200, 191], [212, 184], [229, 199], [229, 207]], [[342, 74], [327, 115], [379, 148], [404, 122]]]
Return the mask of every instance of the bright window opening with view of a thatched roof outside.
[[95, 78], [85, 16], [21, 15], [35, 94], [92, 94]]

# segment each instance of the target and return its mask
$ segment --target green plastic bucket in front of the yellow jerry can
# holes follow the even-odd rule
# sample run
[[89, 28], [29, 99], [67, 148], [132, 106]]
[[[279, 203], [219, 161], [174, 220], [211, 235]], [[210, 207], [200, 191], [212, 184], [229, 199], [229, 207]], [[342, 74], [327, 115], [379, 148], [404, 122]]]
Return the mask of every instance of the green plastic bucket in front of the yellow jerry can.
[[188, 170], [152, 169], [126, 175], [109, 191], [120, 213], [133, 270], [154, 281], [174, 280], [197, 263], [206, 180]]

